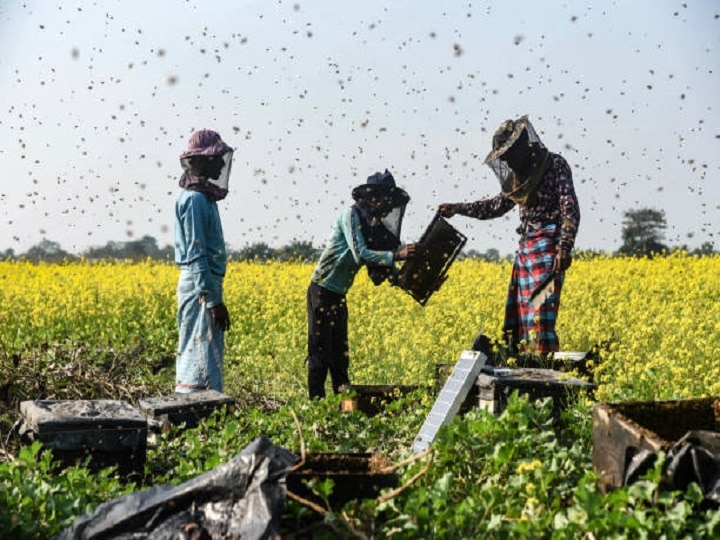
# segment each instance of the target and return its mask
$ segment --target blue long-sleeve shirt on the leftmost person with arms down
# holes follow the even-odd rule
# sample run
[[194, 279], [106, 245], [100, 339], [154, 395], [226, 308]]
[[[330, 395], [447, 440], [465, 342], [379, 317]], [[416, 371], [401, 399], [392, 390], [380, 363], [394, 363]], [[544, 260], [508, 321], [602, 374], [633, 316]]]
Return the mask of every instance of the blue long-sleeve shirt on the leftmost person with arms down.
[[201, 192], [182, 189], [175, 200], [175, 263], [192, 273], [207, 307], [223, 302], [227, 253], [220, 213], [217, 203]]

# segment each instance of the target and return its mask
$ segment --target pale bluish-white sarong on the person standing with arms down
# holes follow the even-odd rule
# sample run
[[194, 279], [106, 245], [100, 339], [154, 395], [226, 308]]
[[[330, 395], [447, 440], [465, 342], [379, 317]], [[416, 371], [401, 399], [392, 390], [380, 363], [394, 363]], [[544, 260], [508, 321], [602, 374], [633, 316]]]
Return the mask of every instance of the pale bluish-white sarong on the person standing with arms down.
[[[222, 290], [222, 278], [220, 280]], [[224, 332], [213, 322], [210, 310], [195, 290], [193, 274], [180, 271], [178, 299], [178, 355], [175, 392], [223, 391]]]

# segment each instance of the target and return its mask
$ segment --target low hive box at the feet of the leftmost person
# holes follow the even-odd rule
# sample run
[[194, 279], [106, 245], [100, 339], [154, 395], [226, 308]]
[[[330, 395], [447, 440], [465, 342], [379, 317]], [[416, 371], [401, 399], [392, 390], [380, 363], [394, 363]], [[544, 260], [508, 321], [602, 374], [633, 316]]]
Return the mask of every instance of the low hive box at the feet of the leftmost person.
[[186, 427], [195, 427], [201, 419], [207, 418], [214, 411], [223, 406], [234, 405], [234, 398], [216, 390], [151, 397], [138, 401], [138, 407], [149, 418], [160, 420], [165, 417], [170, 424], [185, 423]]

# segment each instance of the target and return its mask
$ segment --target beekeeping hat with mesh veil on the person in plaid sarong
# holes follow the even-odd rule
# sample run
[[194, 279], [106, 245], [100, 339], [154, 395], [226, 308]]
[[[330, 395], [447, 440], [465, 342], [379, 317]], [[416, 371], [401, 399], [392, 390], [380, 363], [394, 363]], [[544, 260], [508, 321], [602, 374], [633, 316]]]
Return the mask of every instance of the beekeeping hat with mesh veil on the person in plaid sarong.
[[502, 192], [505, 194], [513, 193], [517, 188], [527, 180], [527, 177], [518, 177], [505, 161], [510, 154], [522, 151], [522, 148], [513, 146], [527, 145], [527, 156], [530, 160], [528, 171], [532, 173], [537, 164], [542, 162], [547, 156], [547, 149], [543, 145], [540, 137], [538, 137], [533, 125], [528, 120], [527, 115], [517, 120], [506, 120], [493, 135], [493, 150], [485, 158], [485, 163], [492, 169], [500, 182]]

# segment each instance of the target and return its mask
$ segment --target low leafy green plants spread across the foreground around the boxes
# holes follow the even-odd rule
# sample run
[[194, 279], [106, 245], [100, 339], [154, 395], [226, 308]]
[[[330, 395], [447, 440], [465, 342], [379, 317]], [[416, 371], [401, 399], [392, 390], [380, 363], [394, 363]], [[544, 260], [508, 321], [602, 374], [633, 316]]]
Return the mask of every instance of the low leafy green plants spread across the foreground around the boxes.
[[[176, 428], [148, 450], [146, 484], [179, 484], [221, 465], [263, 435], [298, 455], [307, 452], [382, 452], [399, 463], [430, 407], [427, 391], [393, 402], [375, 417], [341, 412], [340, 397], [298, 400], [272, 410], [219, 411], [198, 427]], [[660, 488], [663, 456], [630, 487], [602, 494], [590, 459], [589, 404], [565, 411], [562, 428], [550, 401], [530, 403], [513, 394], [494, 417], [473, 409], [441, 428], [427, 472], [409, 483], [427, 460], [399, 469], [406, 489], [385, 502], [349, 502], [328, 508], [316, 538], [711, 538], [720, 511], [703, 509], [695, 485], [685, 492]], [[300, 429], [295, 423], [297, 418]], [[45, 538], [105, 501], [135, 489], [112, 470], [54, 471], [50, 454], [35, 443], [0, 463], [0, 530], [11, 537]], [[313, 491], [328, 500], [332, 482]], [[39, 504], [38, 501], [41, 501]], [[288, 500], [284, 519], [317, 521]], [[287, 531], [292, 538], [292, 531]]]

